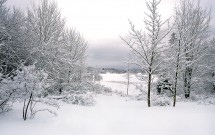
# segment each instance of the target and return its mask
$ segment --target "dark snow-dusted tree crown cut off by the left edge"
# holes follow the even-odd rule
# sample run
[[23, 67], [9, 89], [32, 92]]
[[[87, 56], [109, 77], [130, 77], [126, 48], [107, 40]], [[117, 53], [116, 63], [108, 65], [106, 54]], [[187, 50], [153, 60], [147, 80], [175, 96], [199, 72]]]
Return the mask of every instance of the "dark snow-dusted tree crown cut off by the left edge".
[[4, 75], [16, 70], [29, 54], [25, 46], [25, 17], [18, 9], [10, 11], [5, 3], [6, 0], [0, 1], [0, 72]]

